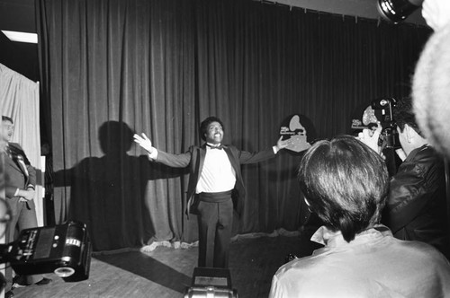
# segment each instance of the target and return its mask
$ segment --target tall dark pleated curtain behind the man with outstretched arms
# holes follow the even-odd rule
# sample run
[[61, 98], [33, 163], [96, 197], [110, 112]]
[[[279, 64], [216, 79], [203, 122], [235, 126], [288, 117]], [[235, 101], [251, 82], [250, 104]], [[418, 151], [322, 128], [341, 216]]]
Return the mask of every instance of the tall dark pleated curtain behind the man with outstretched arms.
[[[94, 250], [195, 241], [187, 174], [150, 163], [131, 142], [182, 153], [210, 115], [226, 144], [275, 145], [289, 115], [310, 141], [348, 133], [356, 106], [410, 92], [429, 31], [247, 0], [37, 0], [49, 100], [57, 223], [87, 223]], [[357, 22], [356, 22], [357, 21]], [[48, 121], [50, 122], [50, 121]], [[315, 130], [315, 133], [314, 133]], [[234, 233], [296, 230], [301, 159], [281, 152], [243, 167]]]

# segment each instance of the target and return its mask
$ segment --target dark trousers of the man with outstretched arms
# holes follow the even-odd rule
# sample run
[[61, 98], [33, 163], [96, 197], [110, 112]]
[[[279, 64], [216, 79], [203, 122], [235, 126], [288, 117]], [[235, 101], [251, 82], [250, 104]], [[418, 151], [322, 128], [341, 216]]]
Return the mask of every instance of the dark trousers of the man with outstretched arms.
[[199, 267], [228, 267], [233, 224], [231, 191], [200, 194], [198, 209]]

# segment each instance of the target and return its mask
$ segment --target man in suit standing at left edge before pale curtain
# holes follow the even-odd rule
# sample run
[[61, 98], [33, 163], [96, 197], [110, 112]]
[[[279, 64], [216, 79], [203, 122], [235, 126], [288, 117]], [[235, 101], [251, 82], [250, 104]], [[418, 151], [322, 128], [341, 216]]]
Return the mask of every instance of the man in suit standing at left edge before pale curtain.
[[[14, 241], [16, 229], [18, 232], [21, 232], [23, 229], [38, 226], [36, 208], [33, 201], [36, 186], [36, 171], [31, 166], [22, 147], [18, 144], [10, 143], [13, 133], [13, 119], [2, 116], [1, 144], [3, 148], [1, 150], [4, 152], [5, 197], [13, 216], [11, 223], [9, 223], [9, 228], [6, 231], [6, 241], [8, 242]], [[13, 289], [14, 287], [32, 284], [47, 285], [50, 281], [49, 278], [41, 275], [15, 276]], [[12, 297], [13, 295], [12, 291], [8, 291], [5, 294], [7, 297]]]

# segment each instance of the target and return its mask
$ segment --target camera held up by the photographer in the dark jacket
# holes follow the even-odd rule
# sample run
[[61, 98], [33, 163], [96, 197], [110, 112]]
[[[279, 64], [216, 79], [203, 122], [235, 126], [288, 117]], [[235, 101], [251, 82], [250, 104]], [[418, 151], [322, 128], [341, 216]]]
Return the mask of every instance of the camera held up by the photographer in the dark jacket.
[[392, 98], [382, 98], [372, 101], [371, 105], [365, 108], [361, 118], [352, 119], [352, 129], [375, 129], [379, 121], [383, 127], [378, 140], [378, 145], [384, 148], [401, 148], [397, 125], [392, 116], [392, 110], [397, 101]]

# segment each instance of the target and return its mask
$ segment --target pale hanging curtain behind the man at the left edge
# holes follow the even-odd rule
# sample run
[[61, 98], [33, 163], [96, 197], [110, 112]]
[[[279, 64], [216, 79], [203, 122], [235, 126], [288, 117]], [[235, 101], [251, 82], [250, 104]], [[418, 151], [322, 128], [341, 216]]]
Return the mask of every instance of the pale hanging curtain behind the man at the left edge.
[[39, 83], [32, 82], [22, 74], [0, 64], [0, 111], [13, 118], [12, 142], [19, 143], [31, 165], [37, 172], [36, 216], [38, 225], [44, 224], [43, 164], [40, 159], [40, 97]]

